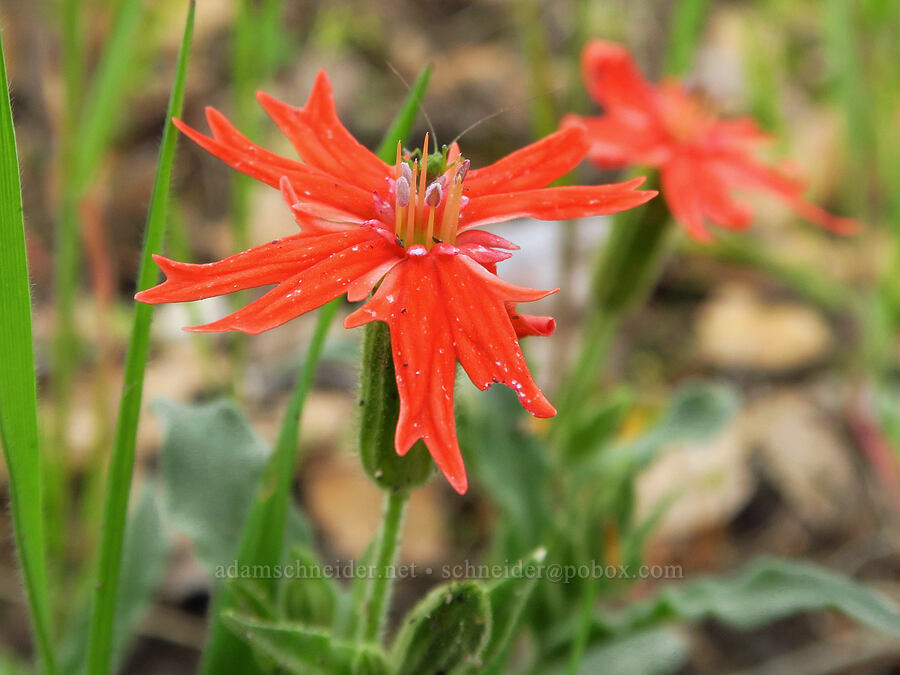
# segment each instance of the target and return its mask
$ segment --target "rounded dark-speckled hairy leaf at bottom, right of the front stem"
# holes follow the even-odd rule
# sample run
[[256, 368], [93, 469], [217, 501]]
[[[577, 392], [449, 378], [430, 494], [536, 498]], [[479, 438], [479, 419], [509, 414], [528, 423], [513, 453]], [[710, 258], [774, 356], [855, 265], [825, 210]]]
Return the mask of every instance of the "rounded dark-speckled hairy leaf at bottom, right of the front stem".
[[397, 675], [479, 666], [491, 636], [491, 602], [481, 584], [438, 586], [403, 619], [391, 648]]

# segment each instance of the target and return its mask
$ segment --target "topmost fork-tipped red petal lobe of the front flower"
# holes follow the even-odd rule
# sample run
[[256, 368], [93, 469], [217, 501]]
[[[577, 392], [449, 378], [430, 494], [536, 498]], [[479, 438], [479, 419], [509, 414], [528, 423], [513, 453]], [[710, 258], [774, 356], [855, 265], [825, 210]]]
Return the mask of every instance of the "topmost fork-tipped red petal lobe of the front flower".
[[390, 167], [341, 124], [325, 71], [316, 76], [303, 108], [262, 91], [257, 92], [257, 99], [304, 161], [334, 176], [346, 176], [367, 191], [384, 189]]

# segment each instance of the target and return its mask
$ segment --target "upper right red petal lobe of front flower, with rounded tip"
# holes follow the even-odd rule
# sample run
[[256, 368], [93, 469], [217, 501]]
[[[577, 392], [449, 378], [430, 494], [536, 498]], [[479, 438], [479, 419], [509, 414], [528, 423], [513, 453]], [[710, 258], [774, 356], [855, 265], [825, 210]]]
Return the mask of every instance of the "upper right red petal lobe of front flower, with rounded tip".
[[515, 192], [541, 188], [578, 166], [587, 149], [583, 129], [563, 129], [483, 169], [470, 171], [463, 187], [469, 197], [501, 189]]

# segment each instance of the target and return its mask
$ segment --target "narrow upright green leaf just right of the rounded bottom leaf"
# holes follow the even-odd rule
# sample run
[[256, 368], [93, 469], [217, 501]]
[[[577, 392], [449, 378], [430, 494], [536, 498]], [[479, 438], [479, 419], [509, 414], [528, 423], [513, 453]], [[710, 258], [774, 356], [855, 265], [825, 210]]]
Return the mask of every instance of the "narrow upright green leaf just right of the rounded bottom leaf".
[[537, 584], [538, 572], [547, 557], [547, 550], [539, 548], [520, 563], [518, 570], [495, 582], [488, 590], [491, 603], [491, 638], [482, 660], [485, 673], [502, 673], [506, 651], [512, 642], [522, 611]]

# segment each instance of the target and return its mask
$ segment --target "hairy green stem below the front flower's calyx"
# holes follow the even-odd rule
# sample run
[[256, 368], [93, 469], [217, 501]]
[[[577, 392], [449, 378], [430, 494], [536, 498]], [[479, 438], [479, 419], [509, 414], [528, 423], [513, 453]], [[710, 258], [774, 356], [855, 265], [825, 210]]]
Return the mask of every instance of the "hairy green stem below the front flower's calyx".
[[400, 531], [408, 500], [409, 493], [405, 490], [386, 491], [384, 495], [375, 569], [364, 604], [362, 638], [366, 642], [377, 642], [384, 629], [394, 578], [393, 567], [400, 548]]

